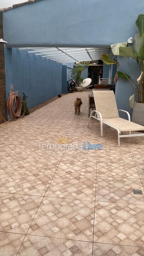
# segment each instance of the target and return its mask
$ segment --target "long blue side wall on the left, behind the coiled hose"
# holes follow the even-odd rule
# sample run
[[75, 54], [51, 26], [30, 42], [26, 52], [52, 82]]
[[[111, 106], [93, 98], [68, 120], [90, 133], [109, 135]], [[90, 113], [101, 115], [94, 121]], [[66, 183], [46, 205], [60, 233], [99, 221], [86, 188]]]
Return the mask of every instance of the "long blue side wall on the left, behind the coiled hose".
[[[10, 86], [28, 98], [28, 107], [33, 107], [62, 94], [62, 67], [53, 60], [28, 54], [27, 50], [5, 48], [6, 96]], [[66, 72], [66, 71], [65, 71]]]

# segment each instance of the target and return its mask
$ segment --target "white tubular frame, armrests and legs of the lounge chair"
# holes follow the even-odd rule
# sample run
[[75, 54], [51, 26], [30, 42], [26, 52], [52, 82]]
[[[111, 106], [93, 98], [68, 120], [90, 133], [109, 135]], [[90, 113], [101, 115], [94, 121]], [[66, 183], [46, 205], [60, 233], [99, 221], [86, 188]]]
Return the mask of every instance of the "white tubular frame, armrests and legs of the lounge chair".
[[[112, 91], [111, 91], [111, 92], [112, 92]], [[95, 98], [94, 98], [94, 99], [95, 99]], [[96, 105], [96, 102], [95, 102], [95, 105]], [[128, 121], [131, 122], [131, 121], [130, 121], [130, 114], [129, 114], [127, 111], [125, 111], [125, 110], [118, 110], [118, 111], [126, 112], [127, 115], [128, 115]], [[95, 116], [92, 116], [93, 113], [95, 113]], [[98, 118], [97, 114], [99, 114], [100, 118]], [[114, 127], [114, 126], [110, 125], [109, 123], [103, 121], [101, 113], [100, 113], [99, 111], [96, 111], [96, 110], [92, 110], [92, 111], [91, 111], [91, 114], [90, 114], [90, 117], [89, 117], [89, 122], [88, 122], [88, 124], [87, 124], [87, 127], [89, 127], [89, 125], [90, 125], [91, 118], [94, 118], [94, 119], [100, 121], [101, 137], [103, 137], [102, 124], [106, 124], [107, 126], [110, 126], [112, 129], [117, 130], [117, 134], [118, 134], [118, 146], [120, 146], [120, 138], [144, 136], [144, 133], [140, 133], [140, 134], [131, 134], [131, 131], [128, 131], [129, 134], [123, 134], [123, 135], [121, 135], [120, 130], [119, 130], [117, 127]], [[132, 122], [131, 122], [131, 123], [132, 123]], [[139, 126], [139, 125], [138, 125], [138, 126]], [[141, 128], [141, 130], [144, 130], [144, 127], [143, 127], [143, 126], [140, 126], [140, 127], [143, 128], [143, 129]], [[139, 130], [140, 130], [140, 129], [139, 129]]]

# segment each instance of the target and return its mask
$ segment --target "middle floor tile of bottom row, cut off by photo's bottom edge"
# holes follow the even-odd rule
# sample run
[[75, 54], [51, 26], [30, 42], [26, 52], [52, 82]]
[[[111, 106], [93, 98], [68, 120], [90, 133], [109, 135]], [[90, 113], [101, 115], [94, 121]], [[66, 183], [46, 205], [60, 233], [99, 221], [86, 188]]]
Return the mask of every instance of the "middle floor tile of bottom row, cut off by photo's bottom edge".
[[92, 256], [92, 242], [26, 235], [18, 256]]

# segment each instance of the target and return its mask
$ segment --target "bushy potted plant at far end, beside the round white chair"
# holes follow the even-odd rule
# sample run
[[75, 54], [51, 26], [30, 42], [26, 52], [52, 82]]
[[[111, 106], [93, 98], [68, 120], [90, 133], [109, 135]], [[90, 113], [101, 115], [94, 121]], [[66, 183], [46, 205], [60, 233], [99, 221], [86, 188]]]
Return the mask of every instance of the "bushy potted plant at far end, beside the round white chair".
[[83, 91], [82, 82], [84, 78], [81, 76], [82, 71], [84, 71], [85, 67], [88, 65], [86, 62], [85, 64], [79, 63], [74, 66], [74, 69], [71, 72], [71, 75], [74, 75], [74, 79], [76, 81], [75, 89], [76, 91]]

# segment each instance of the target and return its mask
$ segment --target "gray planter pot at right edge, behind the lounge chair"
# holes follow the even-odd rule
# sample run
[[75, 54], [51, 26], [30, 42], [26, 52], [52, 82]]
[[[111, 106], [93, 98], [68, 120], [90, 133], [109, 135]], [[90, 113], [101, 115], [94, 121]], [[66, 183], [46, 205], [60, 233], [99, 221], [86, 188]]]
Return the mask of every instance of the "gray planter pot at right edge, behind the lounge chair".
[[134, 102], [132, 122], [144, 126], [144, 103]]

